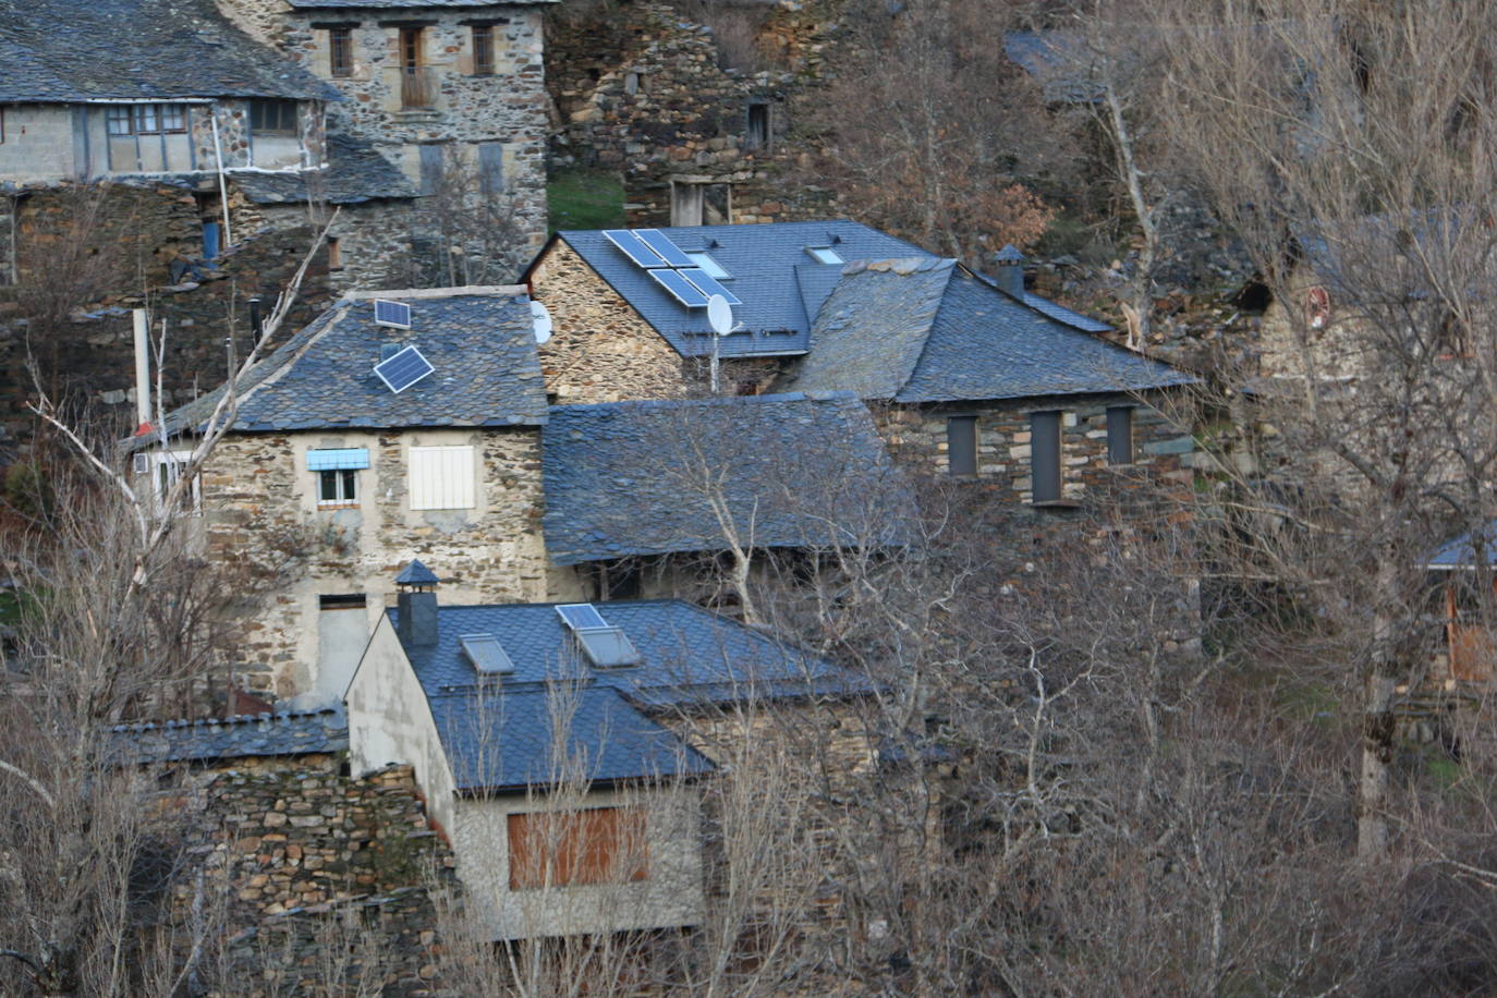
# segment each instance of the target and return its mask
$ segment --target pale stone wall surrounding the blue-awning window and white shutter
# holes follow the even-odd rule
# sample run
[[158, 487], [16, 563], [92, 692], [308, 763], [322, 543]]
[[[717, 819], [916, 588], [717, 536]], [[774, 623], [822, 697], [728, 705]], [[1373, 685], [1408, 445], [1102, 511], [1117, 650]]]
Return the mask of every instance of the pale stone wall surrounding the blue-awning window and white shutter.
[[[409, 509], [406, 449], [427, 444], [476, 447], [475, 509]], [[307, 470], [314, 447], [368, 449], [358, 506], [317, 509]], [[576, 585], [572, 573], [548, 567], [540, 434], [531, 428], [232, 435], [205, 468], [202, 497], [211, 557], [257, 564], [277, 579], [241, 613], [235, 669], [278, 697], [316, 688], [328, 652], [319, 648], [319, 596], [365, 596], [373, 628], [413, 558], [443, 579], [452, 603], [536, 601]]]

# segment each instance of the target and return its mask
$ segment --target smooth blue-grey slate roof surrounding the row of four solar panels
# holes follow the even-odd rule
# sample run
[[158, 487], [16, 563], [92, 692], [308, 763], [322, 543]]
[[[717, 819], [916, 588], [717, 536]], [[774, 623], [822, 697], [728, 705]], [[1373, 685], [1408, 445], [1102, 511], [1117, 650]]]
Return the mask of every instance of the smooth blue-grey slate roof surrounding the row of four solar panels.
[[[707, 251], [732, 277], [723, 287], [743, 299], [734, 320], [744, 332], [723, 337], [720, 356], [804, 353], [811, 320], [831, 292], [838, 268], [816, 263], [811, 245], [832, 248], [843, 260], [930, 256], [877, 229], [847, 220], [660, 229], [687, 253]], [[713, 329], [705, 308], [686, 308], [597, 229], [555, 235], [597, 271], [624, 301], [683, 356], [708, 356]], [[528, 275], [527, 275], [528, 277]]]

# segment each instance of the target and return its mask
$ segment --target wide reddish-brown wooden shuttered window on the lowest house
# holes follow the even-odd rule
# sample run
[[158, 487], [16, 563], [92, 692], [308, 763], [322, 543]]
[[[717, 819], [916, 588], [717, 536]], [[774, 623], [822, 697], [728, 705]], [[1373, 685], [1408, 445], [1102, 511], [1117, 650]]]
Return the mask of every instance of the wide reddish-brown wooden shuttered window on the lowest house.
[[509, 889], [645, 880], [650, 854], [638, 808], [510, 814]]

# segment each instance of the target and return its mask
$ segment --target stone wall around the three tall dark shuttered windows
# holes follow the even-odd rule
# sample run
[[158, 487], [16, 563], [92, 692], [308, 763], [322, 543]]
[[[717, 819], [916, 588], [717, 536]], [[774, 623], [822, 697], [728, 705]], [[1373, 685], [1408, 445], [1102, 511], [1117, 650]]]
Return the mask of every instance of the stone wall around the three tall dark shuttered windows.
[[1135, 405], [1130, 470], [1180, 485], [1190, 482], [1189, 468], [1195, 452], [1190, 429], [1172, 423], [1163, 411], [1138, 404], [1129, 395], [1024, 399], [1022, 405], [1003, 408], [966, 404], [943, 405], [939, 410], [891, 405], [874, 416], [898, 459], [928, 474], [948, 474], [946, 419], [976, 414], [976, 479], [1006, 501], [1027, 504], [1031, 501], [1033, 486], [1028, 414], [1057, 408], [1061, 411], [1061, 497], [1081, 500], [1117, 477], [1108, 465], [1108, 405]]

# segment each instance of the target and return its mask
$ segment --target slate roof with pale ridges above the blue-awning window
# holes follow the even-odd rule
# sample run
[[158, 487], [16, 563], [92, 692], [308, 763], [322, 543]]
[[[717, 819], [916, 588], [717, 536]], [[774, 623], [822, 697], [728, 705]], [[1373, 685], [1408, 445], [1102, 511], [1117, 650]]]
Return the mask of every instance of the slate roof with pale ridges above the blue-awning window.
[[[374, 325], [373, 296], [338, 301], [246, 376], [234, 428], [268, 432], [546, 422], [525, 295], [460, 287], [382, 296], [412, 307], [412, 329]], [[398, 395], [391, 392], [374, 374], [385, 344], [415, 344], [436, 371]], [[168, 432], [199, 428], [222, 392], [220, 386], [171, 413]]]

